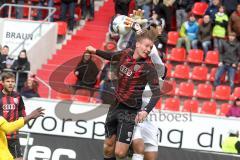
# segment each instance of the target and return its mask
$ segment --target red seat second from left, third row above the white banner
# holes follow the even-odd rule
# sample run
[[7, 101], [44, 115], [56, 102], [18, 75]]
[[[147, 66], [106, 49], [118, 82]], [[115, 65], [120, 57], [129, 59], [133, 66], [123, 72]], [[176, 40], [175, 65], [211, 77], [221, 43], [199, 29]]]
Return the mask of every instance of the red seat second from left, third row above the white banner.
[[173, 74], [174, 78], [189, 79], [190, 68], [187, 65], [177, 65]]

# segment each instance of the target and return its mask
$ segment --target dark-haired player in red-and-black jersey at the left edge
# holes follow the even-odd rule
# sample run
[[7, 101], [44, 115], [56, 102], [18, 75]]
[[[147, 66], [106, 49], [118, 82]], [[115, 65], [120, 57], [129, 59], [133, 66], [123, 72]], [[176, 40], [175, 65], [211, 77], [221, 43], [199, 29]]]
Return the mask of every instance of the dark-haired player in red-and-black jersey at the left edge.
[[[22, 97], [14, 91], [16, 84], [15, 75], [7, 72], [2, 74], [3, 89], [0, 91], [0, 116], [8, 122], [13, 122], [19, 117], [25, 117], [25, 106]], [[18, 132], [7, 135], [8, 148], [17, 160], [22, 159]]]

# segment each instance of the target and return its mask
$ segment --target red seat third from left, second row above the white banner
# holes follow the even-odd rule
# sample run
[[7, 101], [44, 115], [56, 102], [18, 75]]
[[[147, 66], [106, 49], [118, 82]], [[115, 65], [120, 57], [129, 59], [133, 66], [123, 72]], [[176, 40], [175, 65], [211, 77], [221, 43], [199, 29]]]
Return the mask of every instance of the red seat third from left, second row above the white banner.
[[197, 87], [196, 97], [205, 99], [212, 98], [212, 85], [199, 84]]

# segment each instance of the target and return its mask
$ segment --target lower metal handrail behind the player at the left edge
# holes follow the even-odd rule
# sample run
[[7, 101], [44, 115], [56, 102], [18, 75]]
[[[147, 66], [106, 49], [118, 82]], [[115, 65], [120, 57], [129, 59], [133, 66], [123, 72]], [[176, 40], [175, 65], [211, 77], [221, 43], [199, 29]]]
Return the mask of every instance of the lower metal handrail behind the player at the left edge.
[[[16, 73], [16, 86], [15, 86], [15, 90], [17, 90], [19, 74], [20, 74], [20, 73], [31, 74], [30, 71], [18, 71], [18, 70], [13, 70], [13, 69], [3, 69], [3, 71]], [[50, 98], [52, 97], [52, 88], [51, 88], [51, 86], [50, 86], [47, 82], [45, 82], [44, 80], [42, 80], [41, 78], [39, 78], [38, 76], [35, 76], [35, 78], [36, 78], [40, 83], [42, 83], [44, 86], [46, 86], [46, 87], [48, 88], [48, 99], [50, 99]]]

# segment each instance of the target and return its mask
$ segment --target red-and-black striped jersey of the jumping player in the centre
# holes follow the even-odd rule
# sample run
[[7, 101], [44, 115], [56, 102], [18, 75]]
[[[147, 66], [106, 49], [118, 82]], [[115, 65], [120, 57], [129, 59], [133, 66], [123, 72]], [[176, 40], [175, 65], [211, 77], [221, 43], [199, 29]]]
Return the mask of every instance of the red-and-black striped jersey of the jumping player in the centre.
[[118, 84], [115, 95], [119, 102], [128, 107], [140, 109], [142, 94], [145, 86], [149, 84], [152, 96], [146, 111], [149, 113], [160, 98], [160, 86], [157, 71], [150, 57], [136, 60], [133, 51], [126, 49], [119, 52], [104, 52], [97, 50], [96, 54], [110, 61], [119, 61], [117, 75]]

